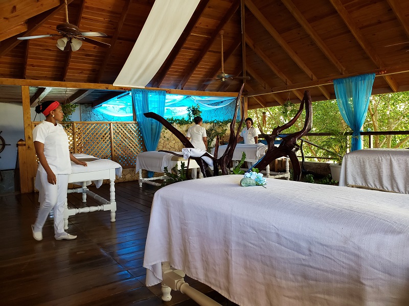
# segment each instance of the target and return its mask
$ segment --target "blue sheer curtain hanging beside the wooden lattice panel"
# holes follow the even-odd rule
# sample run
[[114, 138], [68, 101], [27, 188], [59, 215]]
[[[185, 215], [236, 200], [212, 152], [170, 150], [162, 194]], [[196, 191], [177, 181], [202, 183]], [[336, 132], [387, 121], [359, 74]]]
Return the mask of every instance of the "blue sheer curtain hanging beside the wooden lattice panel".
[[[156, 151], [157, 143], [161, 137], [162, 123], [152, 118], [146, 118], [144, 113], [153, 112], [163, 117], [165, 115], [165, 100], [165, 90], [132, 89], [133, 107], [148, 151]], [[153, 172], [149, 171], [148, 176], [152, 177]]]

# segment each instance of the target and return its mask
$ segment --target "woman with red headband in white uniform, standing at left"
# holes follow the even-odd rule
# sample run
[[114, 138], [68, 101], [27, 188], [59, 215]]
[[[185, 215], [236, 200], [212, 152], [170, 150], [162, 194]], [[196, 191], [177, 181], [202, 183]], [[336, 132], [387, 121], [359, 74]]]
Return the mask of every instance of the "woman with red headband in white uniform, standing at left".
[[68, 177], [71, 161], [86, 166], [77, 160], [69, 150], [68, 136], [61, 124], [64, 113], [58, 101], [46, 101], [35, 108], [46, 120], [33, 130], [34, 148], [40, 164], [36, 176], [36, 188], [40, 191], [40, 209], [31, 229], [35, 240], [42, 240], [42, 227], [51, 210], [54, 212], [54, 237], [56, 240], [72, 240], [77, 236], [64, 231], [64, 205], [67, 197]]

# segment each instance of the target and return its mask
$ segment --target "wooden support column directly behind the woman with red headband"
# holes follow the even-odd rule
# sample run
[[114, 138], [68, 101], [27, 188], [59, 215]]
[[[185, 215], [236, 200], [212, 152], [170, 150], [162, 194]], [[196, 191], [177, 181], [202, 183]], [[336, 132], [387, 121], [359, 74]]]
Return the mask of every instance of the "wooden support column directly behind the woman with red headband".
[[[28, 86], [21, 86], [21, 98], [22, 98], [22, 116], [24, 122], [24, 136], [26, 140], [26, 156], [27, 156], [27, 167], [26, 169], [21, 169], [20, 171], [27, 171], [27, 182], [22, 182], [21, 193], [33, 192], [34, 191], [34, 176], [37, 170], [37, 165], [35, 163], [35, 149], [33, 142], [33, 131], [31, 129], [31, 111], [30, 111], [30, 89]], [[20, 177], [25, 177], [21, 175]], [[23, 191], [23, 186], [27, 186], [27, 189]]]

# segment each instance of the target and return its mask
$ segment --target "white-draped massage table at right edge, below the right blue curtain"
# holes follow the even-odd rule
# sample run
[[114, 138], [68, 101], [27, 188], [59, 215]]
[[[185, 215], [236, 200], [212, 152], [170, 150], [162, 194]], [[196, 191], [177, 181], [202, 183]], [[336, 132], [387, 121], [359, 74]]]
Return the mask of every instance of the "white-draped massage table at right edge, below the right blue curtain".
[[363, 149], [343, 158], [339, 186], [409, 194], [409, 149]]

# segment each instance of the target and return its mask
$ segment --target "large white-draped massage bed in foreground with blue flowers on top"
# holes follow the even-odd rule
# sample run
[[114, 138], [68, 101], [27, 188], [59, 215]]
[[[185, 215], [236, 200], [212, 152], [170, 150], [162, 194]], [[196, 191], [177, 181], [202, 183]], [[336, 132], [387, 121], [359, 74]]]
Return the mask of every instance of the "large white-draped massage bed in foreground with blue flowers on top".
[[409, 304], [409, 195], [241, 178], [155, 193], [143, 266], [164, 300], [170, 264], [242, 306]]

